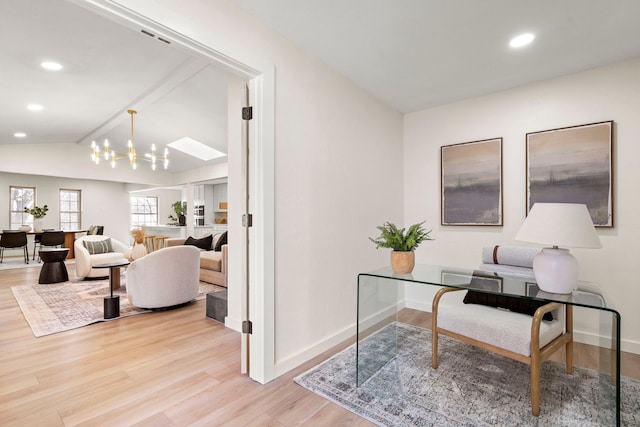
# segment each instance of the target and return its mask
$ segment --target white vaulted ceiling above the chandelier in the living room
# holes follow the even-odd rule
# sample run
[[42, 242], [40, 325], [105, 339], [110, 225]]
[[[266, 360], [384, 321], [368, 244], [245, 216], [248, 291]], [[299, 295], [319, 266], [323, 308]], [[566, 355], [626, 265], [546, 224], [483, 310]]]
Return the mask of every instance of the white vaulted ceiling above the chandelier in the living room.
[[[2, 0], [0, 55], [1, 144], [75, 142], [89, 156], [92, 140], [108, 139], [126, 153], [133, 109], [138, 156], [183, 137], [227, 152], [226, 73], [153, 35], [66, 0]], [[181, 172], [207, 162], [171, 150], [169, 164]]]

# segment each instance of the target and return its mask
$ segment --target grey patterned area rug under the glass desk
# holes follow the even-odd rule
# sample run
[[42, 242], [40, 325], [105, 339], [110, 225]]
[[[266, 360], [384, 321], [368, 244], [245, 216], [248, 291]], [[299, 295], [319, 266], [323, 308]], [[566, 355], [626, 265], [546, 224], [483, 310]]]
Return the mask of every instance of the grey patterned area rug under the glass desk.
[[[394, 327], [397, 326], [397, 329]], [[361, 351], [397, 343], [397, 356], [356, 387], [355, 345], [295, 378], [301, 386], [381, 426], [615, 426], [610, 376], [547, 361], [540, 416], [531, 415], [529, 367], [440, 337], [431, 368], [431, 331], [394, 323]], [[362, 353], [361, 353], [362, 354]], [[622, 425], [640, 426], [640, 381], [621, 381]]]

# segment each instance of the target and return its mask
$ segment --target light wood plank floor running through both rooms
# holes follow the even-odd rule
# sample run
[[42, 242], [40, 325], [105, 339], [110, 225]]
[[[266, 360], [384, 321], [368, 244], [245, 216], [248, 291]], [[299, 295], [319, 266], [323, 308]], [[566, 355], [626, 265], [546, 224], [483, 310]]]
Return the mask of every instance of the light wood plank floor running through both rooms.
[[[38, 274], [0, 271], [0, 425], [372, 425], [292, 380], [353, 340], [261, 385], [238, 373], [240, 335], [206, 318], [204, 301], [35, 338], [10, 288]], [[640, 357], [625, 354], [623, 373], [640, 377]]]

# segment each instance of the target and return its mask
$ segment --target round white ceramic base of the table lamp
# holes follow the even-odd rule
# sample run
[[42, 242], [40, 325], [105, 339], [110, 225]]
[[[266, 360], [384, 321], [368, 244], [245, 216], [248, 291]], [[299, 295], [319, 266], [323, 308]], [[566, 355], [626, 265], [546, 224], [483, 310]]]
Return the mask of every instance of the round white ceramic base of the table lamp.
[[578, 261], [568, 249], [544, 248], [533, 259], [538, 287], [554, 294], [570, 294], [578, 282]]

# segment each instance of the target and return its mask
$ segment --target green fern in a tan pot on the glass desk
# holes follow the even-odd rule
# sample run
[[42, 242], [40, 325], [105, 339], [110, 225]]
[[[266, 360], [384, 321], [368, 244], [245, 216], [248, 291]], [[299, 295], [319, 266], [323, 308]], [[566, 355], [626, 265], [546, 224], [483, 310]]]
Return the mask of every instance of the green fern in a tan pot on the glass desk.
[[429, 237], [432, 230], [422, 228], [424, 221], [413, 224], [408, 229], [398, 228], [391, 222], [385, 222], [376, 227], [380, 230], [380, 236], [375, 239], [369, 237], [376, 244], [376, 249], [391, 249], [391, 269], [394, 273], [408, 274], [413, 271], [416, 264], [415, 249], [425, 240], [433, 240]]

